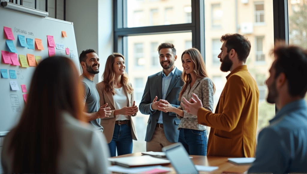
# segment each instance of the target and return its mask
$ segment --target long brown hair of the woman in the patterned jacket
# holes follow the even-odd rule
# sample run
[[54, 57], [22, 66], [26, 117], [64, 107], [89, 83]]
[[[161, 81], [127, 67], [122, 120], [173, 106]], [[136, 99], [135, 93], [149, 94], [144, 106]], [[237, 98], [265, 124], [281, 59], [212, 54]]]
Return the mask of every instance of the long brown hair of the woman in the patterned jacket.
[[[191, 60], [193, 61], [193, 72], [196, 75], [197, 78], [204, 78], [208, 77], [207, 71], [206, 71], [206, 65], [203, 60], [203, 57], [201, 56], [200, 52], [196, 48], [190, 48], [185, 50], [181, 55], [181, 60], [184, 54], [188, 54], [191, 57]], [[188, 84], [192, 82], [191, 74], [185, 73], [185, 70], [183, 70], [181, 79], [185, 82], [185, 85], [183, 85], [178, 100], [181, 101], [181, 97], [185, 90], [188, 87]], [[213, 82], [212, 82], [213, 83]], [[215, 93], [215, 85], [213, 83], [213, 93]]]

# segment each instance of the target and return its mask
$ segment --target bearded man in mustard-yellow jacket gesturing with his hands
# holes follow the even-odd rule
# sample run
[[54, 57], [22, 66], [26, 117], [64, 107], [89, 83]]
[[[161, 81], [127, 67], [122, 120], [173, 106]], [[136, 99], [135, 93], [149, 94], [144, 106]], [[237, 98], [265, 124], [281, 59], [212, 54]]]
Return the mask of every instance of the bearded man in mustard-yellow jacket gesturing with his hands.
[[253, 157], [256, 148], [259, 90], [247, 70], [251, 43], [240, 34], [221, 37], [221, 71], [231, 73], [221, 93], [215, 113], [202, 107], [194, 94], [184, 99], [188, 113], [197, 115], [199, 124], [210, 126], [207, 156]]

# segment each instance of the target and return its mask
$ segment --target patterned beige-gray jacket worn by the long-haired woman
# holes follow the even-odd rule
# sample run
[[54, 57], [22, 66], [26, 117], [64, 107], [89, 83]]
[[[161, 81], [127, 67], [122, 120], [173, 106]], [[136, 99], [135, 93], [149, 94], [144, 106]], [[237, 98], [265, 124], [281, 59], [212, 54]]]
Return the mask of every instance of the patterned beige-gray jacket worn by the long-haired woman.
[[[203, 102], [203, 107], [205, 109], [213, 111], [213, 83], [210, 78], [197, 78], [194, 85], [190, 90], [190, 84], [188, 84], [187, 89], [182, 94], [188, 101], [192, 98], [192, 94], [195, 93], [198, 98]], [[181, 97], [181, 102], [182, 101]], [[180, 104], [178, 109], [183, 110], [183, 118], [177, 114], [177, 118], [180, 119], [180, 124], [178, 128], [195, 129], [195, 130], [206, 130], [205, 125], [200, 125], [197, 123], [197, 116], [187, 113], [183, 106]]]

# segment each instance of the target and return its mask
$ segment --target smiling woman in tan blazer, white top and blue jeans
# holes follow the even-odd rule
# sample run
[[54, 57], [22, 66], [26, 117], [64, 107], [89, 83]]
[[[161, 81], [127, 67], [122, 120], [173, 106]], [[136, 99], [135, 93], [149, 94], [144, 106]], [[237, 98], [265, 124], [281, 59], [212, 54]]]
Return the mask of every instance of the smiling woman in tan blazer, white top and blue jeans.
[[125, 58], [113, 53], [107, 58], [103, 81], [96, 84], [100, 106], [108, 104], [111, 115], [101, 119], [111, 156], [132, 153], [132, 139], [137, 140], [132, 116], [136, 116], [133, 88], [125, 72]]

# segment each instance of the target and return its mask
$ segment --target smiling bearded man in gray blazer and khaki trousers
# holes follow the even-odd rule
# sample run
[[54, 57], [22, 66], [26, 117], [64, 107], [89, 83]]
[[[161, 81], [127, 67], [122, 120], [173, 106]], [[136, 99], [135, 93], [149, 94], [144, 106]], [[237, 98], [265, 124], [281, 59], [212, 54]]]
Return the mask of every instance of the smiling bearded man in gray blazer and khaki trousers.
[[163, 71], [148, 77], [139, 105], [142, 114], [150, 114], [145, 137], [146, 151], [154, 152], [162, 152], [163, 147], [178, 142], [180, 120], [176, 113], [164, 113], [158, 106], [159, 100], [164, 99], [177, 108], [180, 105], [179, 93], [184, 85], [182, 71], [174, 65], [177, 59], [174, 45], [162, 43], [158, 52]]

